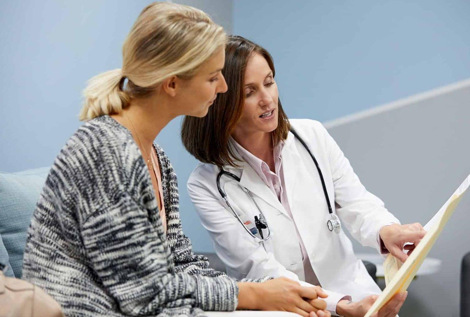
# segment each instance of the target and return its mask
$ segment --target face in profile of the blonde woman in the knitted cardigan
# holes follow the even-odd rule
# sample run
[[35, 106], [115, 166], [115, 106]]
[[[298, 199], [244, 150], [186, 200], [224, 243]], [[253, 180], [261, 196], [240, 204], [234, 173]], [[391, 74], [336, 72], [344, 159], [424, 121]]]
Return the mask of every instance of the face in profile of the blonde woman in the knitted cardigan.
[[196, 75], [181, 80], [178, 104], [182, 115], [203, 117], [214, 102], [218, 93], [227, 91], [227, 83], [222, 75], [225, 62], [225, 47], [204, 62]]

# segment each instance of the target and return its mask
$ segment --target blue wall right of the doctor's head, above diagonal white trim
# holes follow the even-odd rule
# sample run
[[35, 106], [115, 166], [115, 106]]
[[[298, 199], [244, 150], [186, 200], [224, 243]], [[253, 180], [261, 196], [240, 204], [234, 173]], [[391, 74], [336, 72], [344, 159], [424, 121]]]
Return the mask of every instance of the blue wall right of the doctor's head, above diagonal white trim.
[[470, 77], [470, 1], [234, 1], [290, 117], [335, 119]]

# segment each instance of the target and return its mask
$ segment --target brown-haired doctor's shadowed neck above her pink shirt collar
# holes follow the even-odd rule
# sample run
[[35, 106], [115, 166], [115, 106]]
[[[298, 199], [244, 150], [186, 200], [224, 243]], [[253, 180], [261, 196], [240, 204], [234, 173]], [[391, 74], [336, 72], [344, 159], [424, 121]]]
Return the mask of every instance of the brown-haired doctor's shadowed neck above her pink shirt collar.
[[235, 129], [232, 138], [248, 152], [271, 166], [273, 157], [273, 139], [270, 132], [243, 133]]

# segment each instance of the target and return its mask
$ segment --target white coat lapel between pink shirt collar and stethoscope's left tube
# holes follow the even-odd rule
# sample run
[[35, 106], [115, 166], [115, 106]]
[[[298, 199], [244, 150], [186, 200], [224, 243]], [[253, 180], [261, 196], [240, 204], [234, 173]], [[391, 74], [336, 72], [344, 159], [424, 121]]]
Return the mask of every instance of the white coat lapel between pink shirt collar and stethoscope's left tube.
[[[247, 164], [246, 162], [237, 162], [238, 165], [243, 166], [242, 176], [240, 178], [240, 185], [246, 187], [251, 193], [266, 201], [268, 204], [273, 206], [275, 209], [279, 210], [283, 214], [286, 214], [286, 211], [282, 207], [281, 202], [277, 199], [276, 195], [269, 189], [268, 186], [259, 178], [255, 170]], [[226, 167], [226, 170], [230, 170], [230, 167]]]

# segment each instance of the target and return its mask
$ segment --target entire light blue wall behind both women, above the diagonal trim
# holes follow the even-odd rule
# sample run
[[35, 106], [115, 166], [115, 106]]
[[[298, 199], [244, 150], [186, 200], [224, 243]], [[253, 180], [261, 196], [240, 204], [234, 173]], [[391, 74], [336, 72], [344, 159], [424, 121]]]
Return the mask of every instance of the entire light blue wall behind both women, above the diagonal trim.
[[[121, 46], [151, 1], [2, 1], [0, 170], [50, 165], [77, 129], [90, 77], [121, 65]], [[291, 117], [321, 121], [470, 77], [467, 1], [186, 0], [274, 56]], [[180, 118], [157, 138], [180, 182], [183, 227], [196, 251], [211, 242], [186, 180], [196, 161]]]

